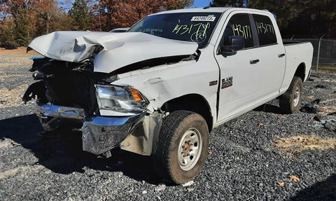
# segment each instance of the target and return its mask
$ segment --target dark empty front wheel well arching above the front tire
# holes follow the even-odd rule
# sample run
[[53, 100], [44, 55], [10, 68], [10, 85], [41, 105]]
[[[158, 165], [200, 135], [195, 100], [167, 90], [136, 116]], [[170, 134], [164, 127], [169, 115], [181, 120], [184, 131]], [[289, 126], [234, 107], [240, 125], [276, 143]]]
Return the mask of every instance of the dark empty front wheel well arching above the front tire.
[[209, 132], [212, 130], [213, 117], [211, 116], [211, 109], [207, 100], [201, 95], [190, 94], [171, 99], [162, 106], [162, 111], [177, 111], [186, 110], [199, 113], [207, 121]]

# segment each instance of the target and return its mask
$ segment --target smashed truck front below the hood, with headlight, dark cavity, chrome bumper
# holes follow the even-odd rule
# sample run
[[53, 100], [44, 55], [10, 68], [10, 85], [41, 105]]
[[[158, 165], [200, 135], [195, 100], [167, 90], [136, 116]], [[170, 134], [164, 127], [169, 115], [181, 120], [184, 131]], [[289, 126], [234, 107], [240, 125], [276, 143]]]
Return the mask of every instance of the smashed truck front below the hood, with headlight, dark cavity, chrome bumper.
[[38, 116], [45, 130], [57, 128], [62, 120], [83, 124], [83, 150], [107, 153], [119, 146], [146, 116], [148, 100], [129, 86], [111, 85], [116, 76], [95, 73], [90, 60], [64, 62], [34, 58], [36, 83], [22, 97], [36, 98]]

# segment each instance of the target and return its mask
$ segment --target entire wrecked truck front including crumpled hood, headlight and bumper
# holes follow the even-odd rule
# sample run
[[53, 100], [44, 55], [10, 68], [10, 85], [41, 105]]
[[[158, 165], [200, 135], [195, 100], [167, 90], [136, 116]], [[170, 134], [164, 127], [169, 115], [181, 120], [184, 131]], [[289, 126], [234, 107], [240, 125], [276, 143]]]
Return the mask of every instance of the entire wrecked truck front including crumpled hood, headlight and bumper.
[[113, 83], [127, 72], [197, 60], [197, 47], [136, 32], [52, 32], [27, 48], [44, 57], [34, 58], [30, 71], [37, 82], [22, 99], [37, 97], [38, 116], [47, 131], [78, 120], [85, 151], [109, 156], [109, 150], [120, 146], [151, 155], [158, 144], [162, 112], [150, 108], [137, 89]]

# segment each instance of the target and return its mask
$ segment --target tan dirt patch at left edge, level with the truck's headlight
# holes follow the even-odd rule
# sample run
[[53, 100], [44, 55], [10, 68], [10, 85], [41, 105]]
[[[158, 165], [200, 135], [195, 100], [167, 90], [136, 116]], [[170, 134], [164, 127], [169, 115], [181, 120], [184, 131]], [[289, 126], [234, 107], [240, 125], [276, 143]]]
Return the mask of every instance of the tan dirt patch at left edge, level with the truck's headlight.
[[22, 102], [22, 95], [25, 93], [29, 85], [19, 85], [12, 90], [7, 88], [0, 89], [0, 108], [18, 106], [24, 104]]

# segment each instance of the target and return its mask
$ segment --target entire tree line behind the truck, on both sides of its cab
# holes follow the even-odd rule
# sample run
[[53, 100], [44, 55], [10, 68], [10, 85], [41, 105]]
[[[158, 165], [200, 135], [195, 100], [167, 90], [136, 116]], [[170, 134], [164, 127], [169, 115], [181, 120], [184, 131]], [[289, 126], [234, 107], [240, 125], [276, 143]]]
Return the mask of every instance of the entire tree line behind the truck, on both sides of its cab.
[[[130, 27], [159, 11], [186, 8], [193, 0], [0, 0], [0, 45], [27, 46], [58, 30], [110, 31]], [[213, 0], [209, 6], [267, 9], [283, 35], [336, 37], [335, 0]]]

